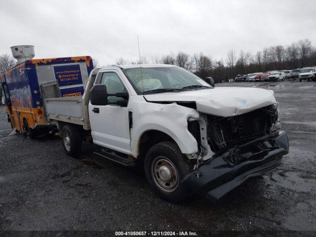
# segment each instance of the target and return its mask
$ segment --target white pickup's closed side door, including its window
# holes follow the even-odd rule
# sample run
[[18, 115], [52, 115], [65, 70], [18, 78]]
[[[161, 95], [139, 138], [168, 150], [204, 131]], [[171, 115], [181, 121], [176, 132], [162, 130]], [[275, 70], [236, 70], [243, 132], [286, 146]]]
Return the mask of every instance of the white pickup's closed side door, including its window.
[[[96, 84], [105, 84], [108, 94], [127, 92], [116, 70], [100, 72], [102, 75]], [[116, 102], [122, 98], [109, 96], [109, 102]], [[130, 133], [128, 123], [128, 107], [111, 105], [91, 105], [89, 103], [89, 118], [93, 143], [116, 150], [124, 154], [131, 154]]]

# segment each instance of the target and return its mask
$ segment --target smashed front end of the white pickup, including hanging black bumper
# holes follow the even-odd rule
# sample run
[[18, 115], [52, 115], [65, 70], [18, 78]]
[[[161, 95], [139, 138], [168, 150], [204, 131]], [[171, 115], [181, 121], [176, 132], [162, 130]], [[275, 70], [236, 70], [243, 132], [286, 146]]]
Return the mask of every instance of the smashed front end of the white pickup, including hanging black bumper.
[[[275, 168], [289, 151], [287, 134], [278, 130], [278, 104], [228, 118], [211, 115], [204, 118], [207, 145], [213, 155], [199, 162], [183, 183], [214, 200], [247, 178]], [[200, 135], [197, 130], [193, 134]], [[203, 142], [200, 145], [201, 151], [205, 150]]]

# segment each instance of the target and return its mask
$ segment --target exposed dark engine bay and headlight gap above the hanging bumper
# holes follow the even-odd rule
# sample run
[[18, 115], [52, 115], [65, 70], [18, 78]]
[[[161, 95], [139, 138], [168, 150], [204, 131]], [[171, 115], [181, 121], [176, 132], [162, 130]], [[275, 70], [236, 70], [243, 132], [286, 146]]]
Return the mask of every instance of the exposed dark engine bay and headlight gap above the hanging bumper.
[[[272, 129], [278, 120], [276, 105], [228, 118], [212, 115], [206, 118], [207, 144], [216, 156], [222, 156], [231, 165], [243, 159], [260, 158], [276, 148]], [[199, 125], [191, 123], [188, 128], [200, 146]]]

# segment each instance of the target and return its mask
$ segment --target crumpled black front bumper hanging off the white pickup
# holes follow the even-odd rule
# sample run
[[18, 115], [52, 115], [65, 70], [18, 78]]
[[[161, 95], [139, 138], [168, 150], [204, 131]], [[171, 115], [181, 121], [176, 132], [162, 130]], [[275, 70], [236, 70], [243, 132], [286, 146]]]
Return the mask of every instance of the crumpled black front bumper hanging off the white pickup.
[[[251, 153], [250, 148], [253, 146], [262, 148], [262, 151]], [[245, 153], [247, 148], [249, 152]], [[183, 184], [193, 192], [207, 193], [208, 197], [216, 201], [249, 177], [261, 175], [277, 167], [282, 156], [289, 151], [287, 133], [279, 131], [241, 145], [235, 150], [236, 164], [232, 164], [232, 160], [228, 159], [232, 158], [229, 152], [211, 158], [187, 174]]]

